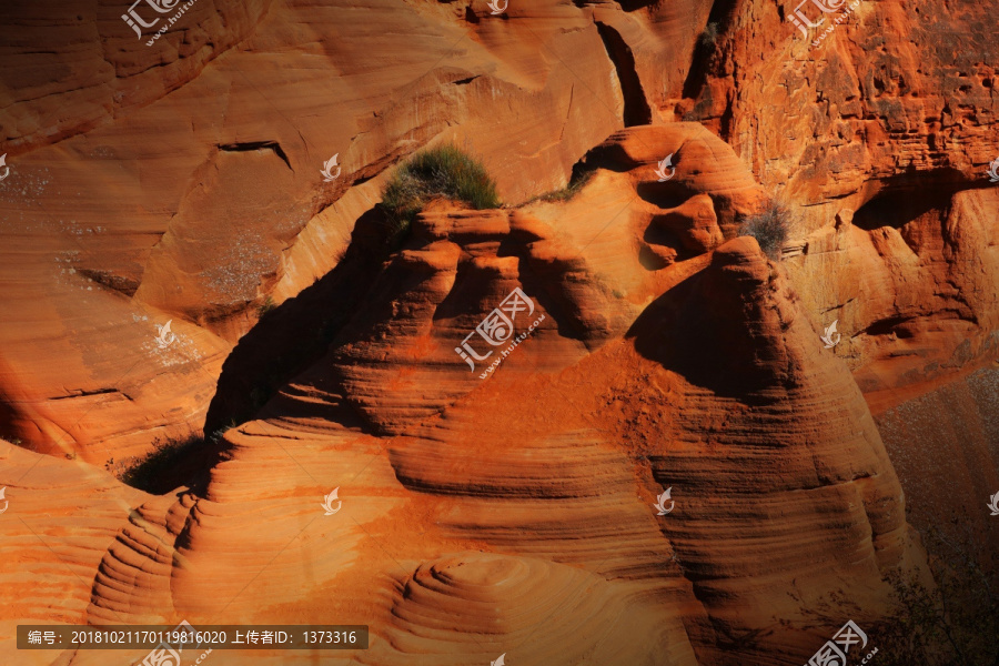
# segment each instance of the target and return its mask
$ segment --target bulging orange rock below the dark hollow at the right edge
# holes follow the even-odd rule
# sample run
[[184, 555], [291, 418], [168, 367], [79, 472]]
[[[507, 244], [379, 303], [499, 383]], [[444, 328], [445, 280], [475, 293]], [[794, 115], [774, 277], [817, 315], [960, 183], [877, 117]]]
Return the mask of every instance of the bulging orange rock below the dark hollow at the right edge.
[[786, 261], [876, 410], [999, 353], [999, 189], [876, 199]]

